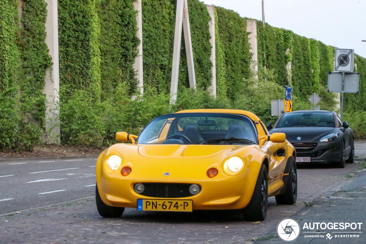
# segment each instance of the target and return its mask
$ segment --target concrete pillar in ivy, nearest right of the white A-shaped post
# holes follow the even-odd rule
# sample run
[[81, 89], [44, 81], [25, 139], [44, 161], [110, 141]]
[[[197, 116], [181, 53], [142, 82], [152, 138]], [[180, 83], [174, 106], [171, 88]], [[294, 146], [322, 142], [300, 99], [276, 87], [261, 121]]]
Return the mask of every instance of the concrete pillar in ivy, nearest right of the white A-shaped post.
[[211, 91], [211, 94], [216, 97], [216, 42], [215, 42], [215, 6], [214, 5], [206, 5], [207, 11], [210, 14], [211, 20], [208, 22], [209, 31], [211, 34], [210, 44], [212, 46], [211, 49], [211, 57], [210, 60], [212, 62], [212, 80], [211, 85], [208, 87], [208, 90]]

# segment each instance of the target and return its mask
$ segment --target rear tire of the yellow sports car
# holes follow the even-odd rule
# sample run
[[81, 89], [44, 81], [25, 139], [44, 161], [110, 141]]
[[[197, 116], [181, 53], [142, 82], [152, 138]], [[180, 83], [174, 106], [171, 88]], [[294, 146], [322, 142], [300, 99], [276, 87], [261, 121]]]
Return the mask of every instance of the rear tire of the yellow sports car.
[[288, 172], [288, 178], [286, 182], [286, 191], [283, 194], [275, 196], [277, 204], [292, 205], [296, 203], [297, 190], [298, 190], [297, 180], [298, 178], [297, 178], [295, 159], [292, 156], [290, 171]]

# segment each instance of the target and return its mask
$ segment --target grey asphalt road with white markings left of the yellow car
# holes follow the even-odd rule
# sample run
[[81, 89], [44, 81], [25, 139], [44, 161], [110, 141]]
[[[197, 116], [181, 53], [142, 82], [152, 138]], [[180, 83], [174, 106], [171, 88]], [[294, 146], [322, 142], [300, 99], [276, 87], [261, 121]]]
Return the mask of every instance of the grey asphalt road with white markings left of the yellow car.
[[0, 214], [95, 194], [97, 156], [0, 162]]

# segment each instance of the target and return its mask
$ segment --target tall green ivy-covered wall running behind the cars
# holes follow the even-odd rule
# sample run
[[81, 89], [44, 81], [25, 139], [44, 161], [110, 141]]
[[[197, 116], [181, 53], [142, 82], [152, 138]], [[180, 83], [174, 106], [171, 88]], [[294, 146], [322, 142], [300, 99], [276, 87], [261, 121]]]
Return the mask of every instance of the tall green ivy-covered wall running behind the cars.
[[[3, 105], [0, 106], [0, 126], [9, 132], [6, 138], [0, 136], [0, 149], [21, 148], [25, 144], [26, 139], [16, 137], [16, 131], [22, 130], [23, 134], [33, 131], [34, 138], [41, 133], [40, 129], [37, 131], [25, 121], [38, 121], [43, 128], [45, 95], [42, 89], [45, 70], [52, 64], [44, 43], [45, 1], [24, 0], [20, 20], [22, 28], [19, 27], [18, 4], [18, 0], [2, 0], [0, 4], [0, 101]], [[201, 1], [188, 0], [188, 8], [197, 89], [205, 91], [212, 78], [210, 16]], [[113, 123], [113, 119], [104, 123], [104, 120], [110, 119], [110, 114], [105, 114], [101, 118], [103, 121], [94, 113], [77, 117], [76, 113], [85, 112], [79, 109], [80, 103], [83, 103], [83, 109], [99, 113], [109, 111], [117, 104], [126, 105], [128, 111], [134, 111], [132, 114], [135, 117], [141, 117], [138, 123], [130, 120], [123, 122], [128, 124], [128, 128], [136, 130], [151, 119], [138, 112], [144, 106], [145, 114], [149, 110], [149, 106], [142, 104], [143, 101], [151, 104], [158, 101], [156, 111], [170, 111], [175, 11], [176, 0], [142, 0], [143, 78], [147, 95], [141, 101], [131, 102], [131, 95], [137, 91], [133, 64], [140, 43], [136, 37], [136, 11], [132, 1], [58, 0], [58, 65], [64, 143], [87, 141], [86, 134], [93, 134], [100, 142], [106, 131], [110, 130], [108, 123], [120, 123], [118, 119]], [[240, 103], [240, 106], [253, 108], [247, 103], [248, 98], [257, 99], [259, 103], [262, 90], [267, 89], [268, 92], [273, 88], [279, 92], [290, 85], [293, 87], [294, 107], [309, 109], [308, 98], [317, 92], [322, 97], [321, 108], [335, 109], [335, 94], [326, 91], [328, 71], [332, 71], [334, 66], [334, 47], [268, 23], [264, 26], [261, 21], [257, 21], [257, 33], [259, 83], [250, 80], [253, 73], [250, 70], [246, 18], [232, 10], [215, 8], [218, 99], [210, 98], [208, 92], [199, 93], [199, 99], [206, 105], [197, 102], [197, 106], [220, 107], [218, 104], [221, 104], [221, 107], [235, 107]], [[192, 91], [187, 91], [189, 82], [184, 38], [180, 51], [178, 97], [181, 94], [182, 100], [177, 101], [180, 105], [175, 106], [175, 110], [197, 107], [187, 105], [191, 104]], [[356, 55], [355, 63], [361, 74], [360, 92], [345, 95], [345, 111], [348, 113], [366, 109], [366, 59]], [[258, 111], [264, 111], [261, 116], [269, 120], [268, 106], [265, 103], [261, 105]], [[240, 108], [245, 109], [245, 106]], [[120, 111], [116, 111], [122, 110], [121, 107]], [[82, 128], [78, 127], [71, 115], [88, 118], [87, 123]], [[11, 121], [10, 118], [16, 119]], [[111, 131], [108, 132], [109, 137], [111, 134]]]

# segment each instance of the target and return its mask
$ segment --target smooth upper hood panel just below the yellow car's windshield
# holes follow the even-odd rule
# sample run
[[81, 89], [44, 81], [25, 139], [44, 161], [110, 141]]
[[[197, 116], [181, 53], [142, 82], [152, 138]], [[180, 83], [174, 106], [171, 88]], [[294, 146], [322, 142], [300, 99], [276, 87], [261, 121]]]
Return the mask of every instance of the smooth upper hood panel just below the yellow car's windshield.
[[139, 145], [138, 154], [147, 158], [208, 158], [224, 151], [232, 152], [242, 148], [242, 145], [143, 144]]

